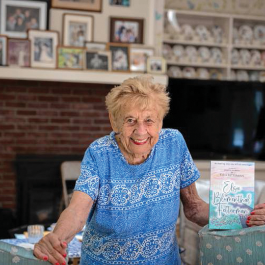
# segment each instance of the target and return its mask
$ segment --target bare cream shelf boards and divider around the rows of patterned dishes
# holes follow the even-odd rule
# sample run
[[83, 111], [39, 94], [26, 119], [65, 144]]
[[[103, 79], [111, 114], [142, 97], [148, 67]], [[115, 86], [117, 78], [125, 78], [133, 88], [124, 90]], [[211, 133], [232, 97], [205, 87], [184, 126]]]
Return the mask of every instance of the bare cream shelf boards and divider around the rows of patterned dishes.
[[[232, 71], [237, 70], [245, 70], [249, 71], [265, 71], [265, 62], [262, 62], [261, 65], [233, 65], [231, 64], [231, 55], [232, 50], [237, 49], [246, 49], [246, 50], [259, 50], [261, 53], [265, 53], [265, 43], [260, 43], [259, 40], [253, 40], [252, 44], [247, 44], [242, 41], [238, 43], [234, 43], [233, 41], [233, 28], [239, 28], [242, 25], [249, 25], [252, 29], [256, 25], [264, 25], [265, 26], [265, 17], [253, 17], [253, 16], [240, 16], [240, 15], [233, 15], [233, 14], [216, 14], [216, 13], [208, 13], [208, 12], [198, 12], [193, 10], [173, 10], [173, 9], [166, 9], [165, 12], [171, 12], [175, 15], [176, 20], [172, 20], [172, 23], [176, 23], [177, 27], [181, 27], [182, 25], [190, 25], [193, 29], [198, 25], [203, 25], [211, 30], [213, 26], [219, 26], [223, 29], [223, 42], [222, 43], [215, 43], [213, 38], [209, 38], [208, 41], [199, 41], [198, 36], [195, 36], [190, 40], [184, 38], [181, 33], [174, 34], [174, 27], [166, 27], [164, 36], [163, 36], [163, 43], [169, 45], [172, 48], [174, 45], [182, 45], [185, 49], [187, 46], [194, 46], [196, 50], [200, 47], [206, 46], [209, 49], [215, 47], [219, 48], [223, 53], [223, 62], [222, 64], [215, 64], [212, 63], [211, 60], [205, 63], [190, 63], [188, 61], [184, 62], [182, 58], [179, 60], [174, 60], [174, 54], [170, 55], [167, 58], [168, 69], [170, 66], [179, 66], [183, 69], [185, 66], [194, 67], [194, 68], [208, 68], [208, 69], [216, 69], [222, 71], [222, 79], [231, 79]], [[165, 15], [165, 18], [167, 16]], [[165, 24], [168, 26], [170, 23]], [[166, 49], [169, 49], [168, 46]], [[167, 53], [168, 54], [168, 53]], [[263, 55], [264, 56], [264, 55]], [[263, 58], [264, 60], [264, 58]], [[169, 71], [171, 72], [171, 71]], [[251, 72], [249, 72], [251, 73]], [[264, 75], [264, 73], [261, 73]]]

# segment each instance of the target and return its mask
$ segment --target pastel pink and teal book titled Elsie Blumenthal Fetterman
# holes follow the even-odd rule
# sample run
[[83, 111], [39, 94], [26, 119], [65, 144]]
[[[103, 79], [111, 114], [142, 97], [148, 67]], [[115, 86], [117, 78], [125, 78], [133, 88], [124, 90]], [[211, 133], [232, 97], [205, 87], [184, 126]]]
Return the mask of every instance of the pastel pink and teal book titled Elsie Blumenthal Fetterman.
[[242, 229], [254, 209], [255, 163], [211, 161], [209, 229]]

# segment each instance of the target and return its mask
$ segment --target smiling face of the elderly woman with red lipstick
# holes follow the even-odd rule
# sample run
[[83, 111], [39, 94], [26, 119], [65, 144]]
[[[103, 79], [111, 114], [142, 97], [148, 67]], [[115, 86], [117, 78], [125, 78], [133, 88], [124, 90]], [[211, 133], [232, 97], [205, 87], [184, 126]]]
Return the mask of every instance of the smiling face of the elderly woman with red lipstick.
[[113, 130], [119, 133], [118, 143], [123, 153], [136, 159], [146, 159], [159, 140], [162, 116], [155, 104], [143, 110], [135, 106], [126, 107], [117, 118], [116, 126], [113, 126], [110, 116]]

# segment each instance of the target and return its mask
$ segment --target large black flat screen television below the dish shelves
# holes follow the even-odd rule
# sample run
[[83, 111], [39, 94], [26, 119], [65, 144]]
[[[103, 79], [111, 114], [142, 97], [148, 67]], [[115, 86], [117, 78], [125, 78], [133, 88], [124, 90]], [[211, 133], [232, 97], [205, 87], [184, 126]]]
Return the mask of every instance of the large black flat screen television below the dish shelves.
[[265, 84], [169, 79], [163, 128], [178, 129], [193, 159], [265, 160]]

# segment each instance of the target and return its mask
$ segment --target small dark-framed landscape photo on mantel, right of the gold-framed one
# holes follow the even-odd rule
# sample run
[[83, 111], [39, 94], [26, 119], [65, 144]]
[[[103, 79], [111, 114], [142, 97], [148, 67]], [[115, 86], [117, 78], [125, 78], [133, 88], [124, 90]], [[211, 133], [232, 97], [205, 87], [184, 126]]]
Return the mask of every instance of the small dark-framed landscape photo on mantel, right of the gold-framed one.
[[111, 52], [109, 51], [86, 51], [85, 69], [111, 71]]

